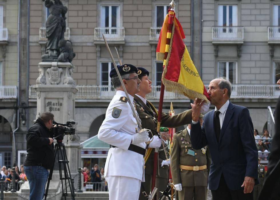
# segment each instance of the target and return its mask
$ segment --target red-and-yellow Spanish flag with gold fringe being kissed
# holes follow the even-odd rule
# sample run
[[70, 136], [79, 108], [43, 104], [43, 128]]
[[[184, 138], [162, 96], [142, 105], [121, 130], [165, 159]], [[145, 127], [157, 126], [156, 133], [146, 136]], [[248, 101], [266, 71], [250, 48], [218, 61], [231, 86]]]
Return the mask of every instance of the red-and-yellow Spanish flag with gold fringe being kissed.
[[176, 19], [174, 11], [169, 10], [156, 49], [156, 59], [163, 61], [162, 83], [166, 91], [209, 102], [206, 88], [183, 42], [184, 38], [180, 22]]

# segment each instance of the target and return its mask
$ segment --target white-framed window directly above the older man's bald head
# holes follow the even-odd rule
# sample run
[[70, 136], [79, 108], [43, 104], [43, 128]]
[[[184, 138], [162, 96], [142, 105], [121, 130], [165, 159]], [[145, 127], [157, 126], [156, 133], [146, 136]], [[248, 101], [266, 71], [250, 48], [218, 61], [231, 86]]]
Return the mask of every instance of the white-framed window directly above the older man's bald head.
[[232, 84], [237, 83], [237, 62], [218, 62], [219, 77], [226, 77]]

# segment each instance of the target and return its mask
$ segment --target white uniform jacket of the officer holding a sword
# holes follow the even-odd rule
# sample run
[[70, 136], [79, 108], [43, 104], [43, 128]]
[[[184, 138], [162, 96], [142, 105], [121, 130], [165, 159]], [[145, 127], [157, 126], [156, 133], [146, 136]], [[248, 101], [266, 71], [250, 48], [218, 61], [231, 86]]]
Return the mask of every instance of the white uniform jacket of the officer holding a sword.
[[[105, 119], [98, 131], [98, 139], [119, 148], [110, 148], [105, 163], [104, 177], [126, 176], [145, 181], [144, 178], [144, 158], [143, 155], [128, 150], [132, 140], [132, 135], [136, 134], [138, 128], [135, 117], [128, 102], [120, 101], [120, 97], [125, 97], [124, 91], [118, 90], [110, 102]], [[131, 102], [133, 97], [129, 95]], [[113, 117], [113, 109], [120, 109], [120, 115]], [[119, 110], [118, 110], [119, 112]], [[116, 118], [117, 117], [117, 118]], [[146, 144], [140, 143], [138, 146], [145, 148]]]

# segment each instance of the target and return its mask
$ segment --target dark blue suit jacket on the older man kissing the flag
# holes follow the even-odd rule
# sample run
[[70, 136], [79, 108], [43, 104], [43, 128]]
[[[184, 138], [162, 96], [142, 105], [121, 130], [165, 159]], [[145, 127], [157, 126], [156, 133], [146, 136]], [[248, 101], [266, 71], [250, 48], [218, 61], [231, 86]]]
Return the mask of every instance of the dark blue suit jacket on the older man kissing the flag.
[[191, 124], [190, 132], [194, 149], [209, 147], [212, 158], [209, 189], [217, 190], [222, 173], [230, 190], [242, 189], [245, 176], [254, 177], [255, 184], [258, 184], [258, 151], [249, 110], [229, 103], [219, 144], [214, 128], [214, 112], [205, 114], [202, 127], [199, 123]]

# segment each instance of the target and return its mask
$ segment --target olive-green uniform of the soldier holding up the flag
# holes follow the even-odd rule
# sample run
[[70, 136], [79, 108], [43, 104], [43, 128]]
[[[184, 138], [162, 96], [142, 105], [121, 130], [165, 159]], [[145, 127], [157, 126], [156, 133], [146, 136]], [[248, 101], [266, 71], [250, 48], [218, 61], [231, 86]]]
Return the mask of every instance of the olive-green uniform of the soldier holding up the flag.
[[[141, 125], [142, 128], [150, 129], [153, 134], [156, 133], [157, 129], [157, 111], [154, 108], [154, 106], [147, 101], [147, 105], [138, 97], [134, 96], [134, 103], [136, 105], [136, 111], [141, 119]], [[161, 119], [161, 125], [164, 127], [169, 127], [169, 128], [175, 128], [179, 127], [185, 124], [190, 123], [192, 120], [192, 111], [187, 110], [184, 111], [183, 113], [170, 116], [165, 113], [162, 113], [162, 119]], [[152, 135], [149, 135], [149, 137], [152, 137]], [[162, 149], [162, 146], [160, 147]], [[161, 162], [163, 160], [166, 160], [164, 151], [159, 151], [158, 154], [159, 157], [159, 165], [161, 165]], [[149, 194], [152, 186], [152, 174], [153, 174], [153, 166], [154, 166], [154, 151], [150, 154], [146, 164], [145, 164], [145, 182], [144, 182], [144, 187], [146, 192]], [[168, 172], [169, 167], [167, 165], [163, 165], [163, 167], [159, 166], [159, 175], [157, 171], [157, 177], [158, 181], [156, 183], [160, 183], [161, 185], [156, 185], [157, 188], [164, 188], [166, 189], [167, 183], [165, 182], [160, 182], [160, 178], [167, 179], [169, 178], [169, 172]], [[159, 190], [160, 191], [160, 190]], [[147, 199], [147, 197], [144, 197], [142, 194], [142, 189], [140, 191], [140, 196], [139, 199]]]

